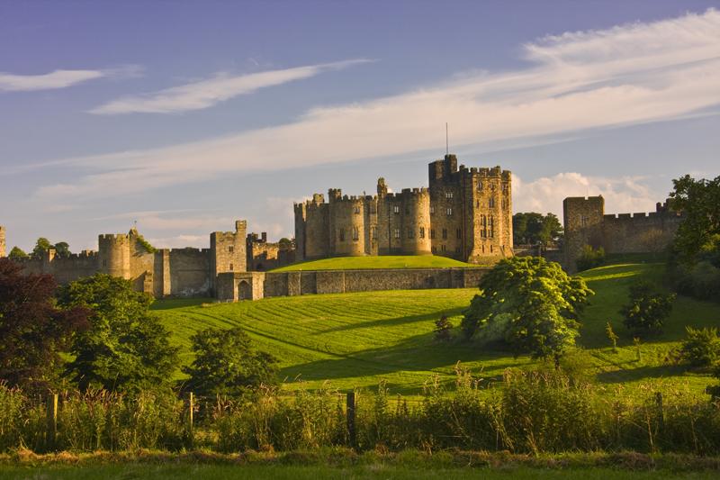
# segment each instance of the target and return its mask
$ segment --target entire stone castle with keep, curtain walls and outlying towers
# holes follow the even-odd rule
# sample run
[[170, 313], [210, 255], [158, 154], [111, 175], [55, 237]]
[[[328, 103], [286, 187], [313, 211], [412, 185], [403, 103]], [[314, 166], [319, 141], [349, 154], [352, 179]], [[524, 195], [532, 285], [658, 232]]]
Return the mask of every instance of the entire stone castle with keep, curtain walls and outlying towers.
[[[295, 239], [267, 241], [266, 233], [214, 231], [208, 249], [154, 249], [134, 228], [103, 234], [98, 249], [59, 257], [18, 260], [27, 273], [51, 274], [59, 284], [105, 273], [130, 280], [157, 298], [214, 296], [237, 301], [265, 296], [325, 294], [396, 288], [451, 288], [477, 285], [485, 268], [417, 268], [267, 272], [314, 258], [365, 255], [440, 255], [491, 265], [516, 254], [512, 244], [511, 175], [495, 168], [457, 166], [455, 155], [429, 164], [428, 188], [388, 191], [383, 178], [377, 195], [347, 196], [329, 190], [294, 204]], [[673, 239], [682, 213], [668, 203], [653, 213], [605, 214], [602, 196], [563, 201], [564, 247], [547, 253], [573, 271], [585, 245], [608, 253], [655, 252]], [[0, 225], [0, 258], [5, 256]], [[523, 254], [518, 250], [519, 254]]]

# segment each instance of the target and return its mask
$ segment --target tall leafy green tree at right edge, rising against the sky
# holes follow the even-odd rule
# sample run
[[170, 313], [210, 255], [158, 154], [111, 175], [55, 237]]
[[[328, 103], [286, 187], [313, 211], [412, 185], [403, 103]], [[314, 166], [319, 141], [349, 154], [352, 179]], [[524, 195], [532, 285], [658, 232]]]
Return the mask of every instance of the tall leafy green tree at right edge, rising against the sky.
[[[671, 207], [684, 213], [674, 249], [686, 263], [720, 235], [720, 177], [696, 180], [689, 175], [672, 180]], [[720, 267], [720, 265], [716, 266]]]

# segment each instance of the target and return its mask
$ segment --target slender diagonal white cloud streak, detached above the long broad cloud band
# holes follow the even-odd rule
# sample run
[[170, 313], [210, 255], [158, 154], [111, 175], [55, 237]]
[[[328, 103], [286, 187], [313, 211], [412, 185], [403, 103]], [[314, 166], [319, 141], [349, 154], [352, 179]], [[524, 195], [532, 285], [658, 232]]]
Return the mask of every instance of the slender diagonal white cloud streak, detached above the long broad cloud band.
[[238, 95], [251, 94], [261, 88], [315, 77], [324, 71], [347, 68], [368, 61], [370, 60], [353, 59], [237, 76], [219, 73], [205, 80], [183, 86], [173, 86], [150, 94], [123, 96], [94, 108], [90, 113], [113, 115], [119, 113], [178, 113], [202, 110]]

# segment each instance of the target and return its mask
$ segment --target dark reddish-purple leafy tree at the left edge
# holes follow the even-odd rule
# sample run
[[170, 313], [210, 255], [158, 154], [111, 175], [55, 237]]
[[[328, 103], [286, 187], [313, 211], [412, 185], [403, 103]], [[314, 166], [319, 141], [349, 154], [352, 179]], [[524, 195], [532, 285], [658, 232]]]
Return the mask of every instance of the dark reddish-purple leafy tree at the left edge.
[[83, 308], [58, 309], [57, 284], [49, 275], [22, 275], [22, 267], [0, 258], [0, 379], [10, 385], [45, 388], [58, 377], [74, 332], [88, 327]]

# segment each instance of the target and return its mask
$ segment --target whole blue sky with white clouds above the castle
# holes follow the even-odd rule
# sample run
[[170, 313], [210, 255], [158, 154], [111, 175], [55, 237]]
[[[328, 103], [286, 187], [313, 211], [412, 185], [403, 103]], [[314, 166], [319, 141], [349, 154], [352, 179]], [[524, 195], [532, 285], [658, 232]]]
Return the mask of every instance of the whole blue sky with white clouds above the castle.
[[653, 210], [720, 172], [717, 2], [4, 2], [0, 224], [71, 249], [134, 221], [206, 246], [294, 201], [427, 184], [451, 150], [568, 195]]

